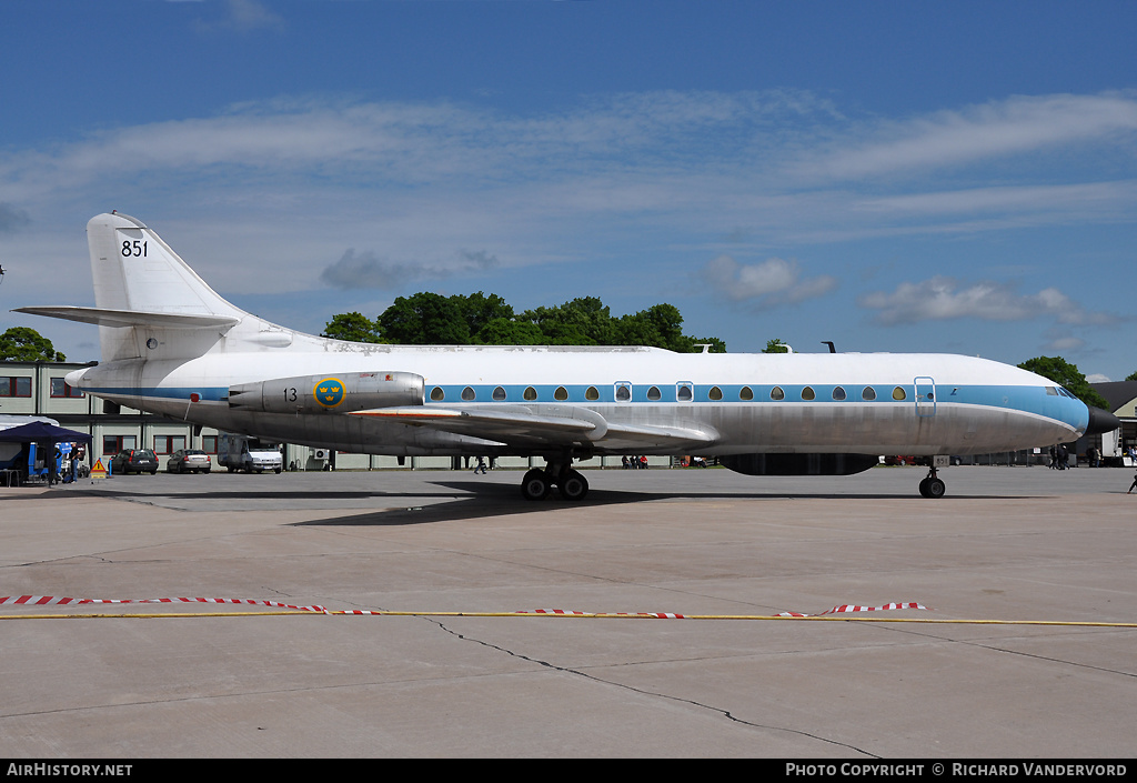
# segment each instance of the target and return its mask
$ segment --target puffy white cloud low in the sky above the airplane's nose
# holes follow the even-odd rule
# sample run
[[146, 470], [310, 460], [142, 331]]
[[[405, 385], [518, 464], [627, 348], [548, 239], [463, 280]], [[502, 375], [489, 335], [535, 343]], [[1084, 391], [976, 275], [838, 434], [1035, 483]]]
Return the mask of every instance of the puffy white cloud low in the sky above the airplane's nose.
[[964, 318], [982, 321], [1048, 318], [1056, 323], [1074, 325], [1122, 321], [1117, 315], [1087, 311], [1056, 288], [1023, 295], [1007, 283], [977, 282], [962, 287], [958, 281], [946, 277], [918, 283], [904, 282], [891, 294], [865, 294], [857, 298], [857, 304], [878, 311], [873, 320], [883, 325]]

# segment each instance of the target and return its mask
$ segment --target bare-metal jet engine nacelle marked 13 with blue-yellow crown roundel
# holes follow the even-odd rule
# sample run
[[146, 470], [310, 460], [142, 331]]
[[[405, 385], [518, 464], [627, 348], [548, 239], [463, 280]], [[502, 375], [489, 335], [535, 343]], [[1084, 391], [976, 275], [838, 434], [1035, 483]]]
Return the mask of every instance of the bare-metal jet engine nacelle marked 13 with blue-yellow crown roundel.
[[413, 372], [342, 372], [274, 378], [229, 388], [229, 406], [267, 413], [350, 413], [422, 405], [425, 379]]

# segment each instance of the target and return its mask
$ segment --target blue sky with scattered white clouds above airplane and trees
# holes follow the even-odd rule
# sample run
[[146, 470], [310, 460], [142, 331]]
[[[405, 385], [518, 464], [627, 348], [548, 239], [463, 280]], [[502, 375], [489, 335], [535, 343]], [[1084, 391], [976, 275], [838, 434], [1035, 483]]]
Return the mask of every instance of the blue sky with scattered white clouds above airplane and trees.
[[420, 290], [1137, 370], [1137, 3], [9, 0], [0, 330], [86, 221], [318, 332]]

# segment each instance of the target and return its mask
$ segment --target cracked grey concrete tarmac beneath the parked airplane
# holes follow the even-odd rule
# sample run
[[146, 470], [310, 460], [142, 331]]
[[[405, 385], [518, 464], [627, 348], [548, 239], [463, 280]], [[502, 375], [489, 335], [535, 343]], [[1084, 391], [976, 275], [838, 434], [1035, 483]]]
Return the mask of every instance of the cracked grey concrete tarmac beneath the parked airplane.
[[[1132, 471], [949, 468], [938, 501], [923, 475], [0, 488], [0, 596], [688, 616], [3, 605], [0, 757], [1137, 755]], [[762, 619], [890, 602], [927, 609]]]

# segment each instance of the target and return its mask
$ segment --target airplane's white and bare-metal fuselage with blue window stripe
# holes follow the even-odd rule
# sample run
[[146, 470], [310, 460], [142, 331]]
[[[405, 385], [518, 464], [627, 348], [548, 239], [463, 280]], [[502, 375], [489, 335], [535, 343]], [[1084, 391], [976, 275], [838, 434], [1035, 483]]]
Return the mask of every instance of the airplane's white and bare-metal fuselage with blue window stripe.
[[[654, 348], [372, 346], [294, 335], [288, 345], [190, 360], [111, 362], [78, 388], [218, 429], [343, 451], [392, 454], [860, 453], [972, 454], [1070, 440], [1086, 406], [1052, 381], [996, 362], [938, 354], [674, 354]], [[417, 425], [317, 413], [233, 410], [231, 386], [298, 376], [413, 372], [424, 410], [561, 414], [696, 429], [684, 444], [579, 437], [571, 444], [471, 437]], [[812, 391], [812, 394], [811, 394]], [[301, 394], [310, 393], [307, 389]], [[196, 395], [196, 396], [194, 396]]]

